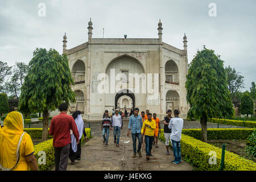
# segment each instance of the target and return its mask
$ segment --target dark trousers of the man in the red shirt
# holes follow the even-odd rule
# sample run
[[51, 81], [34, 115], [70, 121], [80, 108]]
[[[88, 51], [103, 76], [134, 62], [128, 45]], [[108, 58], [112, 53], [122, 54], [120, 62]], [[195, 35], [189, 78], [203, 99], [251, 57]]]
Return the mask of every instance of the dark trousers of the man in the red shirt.
[[69, 148], [71, 144], [63, 147], [54, 147], [55, 171], [67, 171]]

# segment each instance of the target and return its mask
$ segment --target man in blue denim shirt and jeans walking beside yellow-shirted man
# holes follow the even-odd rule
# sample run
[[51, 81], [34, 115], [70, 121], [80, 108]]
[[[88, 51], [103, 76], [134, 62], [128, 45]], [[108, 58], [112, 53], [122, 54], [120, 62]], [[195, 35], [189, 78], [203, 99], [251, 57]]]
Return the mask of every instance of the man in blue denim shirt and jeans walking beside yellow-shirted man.
[[[128, 132], [127, 136], [129, 137], [131, 131], [131, 137], [133, 138], [133, 158], [136, 157], [136, 152], [138, 153], [139, 157], [141, 158], [141, 144], [142, 144], [142, 137], [141, 137], [141, 129], [143, 126], [142, 117], [138, 115], [139, 108], [136, 107], [134, 109], [134, 115], [131, 115], [128, 124]], [[136, 151], [136, 142], [138, 138], [138, 150]]]

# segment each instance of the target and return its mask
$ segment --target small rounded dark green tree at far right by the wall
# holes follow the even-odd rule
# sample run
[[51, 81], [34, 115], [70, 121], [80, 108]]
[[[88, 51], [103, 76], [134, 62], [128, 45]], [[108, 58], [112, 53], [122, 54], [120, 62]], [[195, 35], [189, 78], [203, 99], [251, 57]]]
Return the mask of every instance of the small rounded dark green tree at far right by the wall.
[[240, 105], [241, 114], [253, 114], [253, 99], [250, 97], [249, 93], [244, 93], [241, 98]]

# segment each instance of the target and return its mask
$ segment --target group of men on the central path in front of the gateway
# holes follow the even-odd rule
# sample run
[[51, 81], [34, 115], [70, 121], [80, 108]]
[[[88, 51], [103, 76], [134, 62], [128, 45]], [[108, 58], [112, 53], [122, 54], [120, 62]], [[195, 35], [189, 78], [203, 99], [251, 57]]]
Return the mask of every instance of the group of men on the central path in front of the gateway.
[[[114, 110], [113, 110], [114, 111]], [[171, 142], [174, 151], [175, 159], [172, 161], [174, 164], [181, 163], [181, 131], [183, 129], [183, 119], [179, 117], [179, 110], [174, 110], [174, 118], [171, 117], [172, 110], [167, 110], [167, 115], [163, 119], [164, 125], [164, 138], [166, 139], [166, 154], [170, 155], [169, 143]], [[102, 136], [103, 143], [108, 145], [109, 130], [114, 129], [114, 143], [119, 147], [120, 132], [123, 127], [122, 116], [119, 114], [119, 110], [115, 109], [115, 113], [112, 116], [109, 115], [108, 110], [105, 110], [104, 117], [102, 118]], [[156, 117], [156, 113], [153, 115], [149, 110], [144, 111], [139, 115], [139, 109], [134, 109], [133, 115], [130, 116], [127, 136], [133, 139], [133, 158], [138, 154], [142, 157], [141, 147], [146, 146], [146, 159], [149, 160], [153, 144], [158, 147], [158, 137], [161, 131], [160, 120]], [[137, 150], [138, 139], [138, 150]]]

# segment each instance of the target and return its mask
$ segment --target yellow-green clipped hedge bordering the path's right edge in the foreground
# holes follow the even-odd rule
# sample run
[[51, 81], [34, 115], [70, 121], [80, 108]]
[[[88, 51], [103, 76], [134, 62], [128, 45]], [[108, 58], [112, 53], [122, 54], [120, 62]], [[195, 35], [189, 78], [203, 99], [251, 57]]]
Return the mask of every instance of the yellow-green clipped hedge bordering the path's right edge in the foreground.
[[[224, 129], [225, 130], [225, 129]], [[186, 132], [183, 130], [184, 133]], [[192, 134], [195, 131], [196, 134]], [[225, 133], [225, 131], [222, 130]], [[187, 134], [197, 136], [197, 130], [189, 130]], [[228, 131], [229, 133], [229, 131]], [[160, 140], [165, 141], [163, 129], [160, 133]], [[202, 142], [188, 135], [182, 134], [181, 136], [181, 155], [183, 158], [191, 160], [191, 162], [202, 171], [217, 171], [221, 163], [221, 148], [212, 146], [211, 144]], [[209, 164], [209, 152], [216, 152], [216, 164]], [[246, 160], [240, 156], [232, 153], [225, 152], [225, 171], [256, 171], [256, 163], [251, 160]]]

